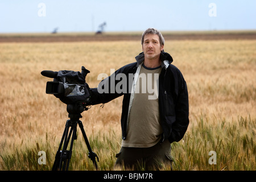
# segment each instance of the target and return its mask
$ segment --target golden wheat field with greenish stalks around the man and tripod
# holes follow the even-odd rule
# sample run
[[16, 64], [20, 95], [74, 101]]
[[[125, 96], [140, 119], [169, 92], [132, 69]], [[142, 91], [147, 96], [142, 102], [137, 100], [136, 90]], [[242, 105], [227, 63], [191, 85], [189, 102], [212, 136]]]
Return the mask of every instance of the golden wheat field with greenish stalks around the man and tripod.
[[[0, 44], [0, 170], [51, 170], [68, 119], [66, 105], [46, 94], [43, 70], [81, 71], [91, 88], [100, 73], [110, 75], [135, 61], [138, 41]], [[256, 169], [256, 40], [166, 41], [189, 92], [187, 133], [171, 144], [174, 170]], [[121, 148], [122, 97], [92, 106], [81, 121], [99, 170], [114, 166]], [[77, 128], [70, 170], [94, 170]], [[39, 164], [39, 151], [46, 164]], [[216, 163], [210, 164], [210, 151]], [[163, 170], [170, 170], [164, 166]]]

